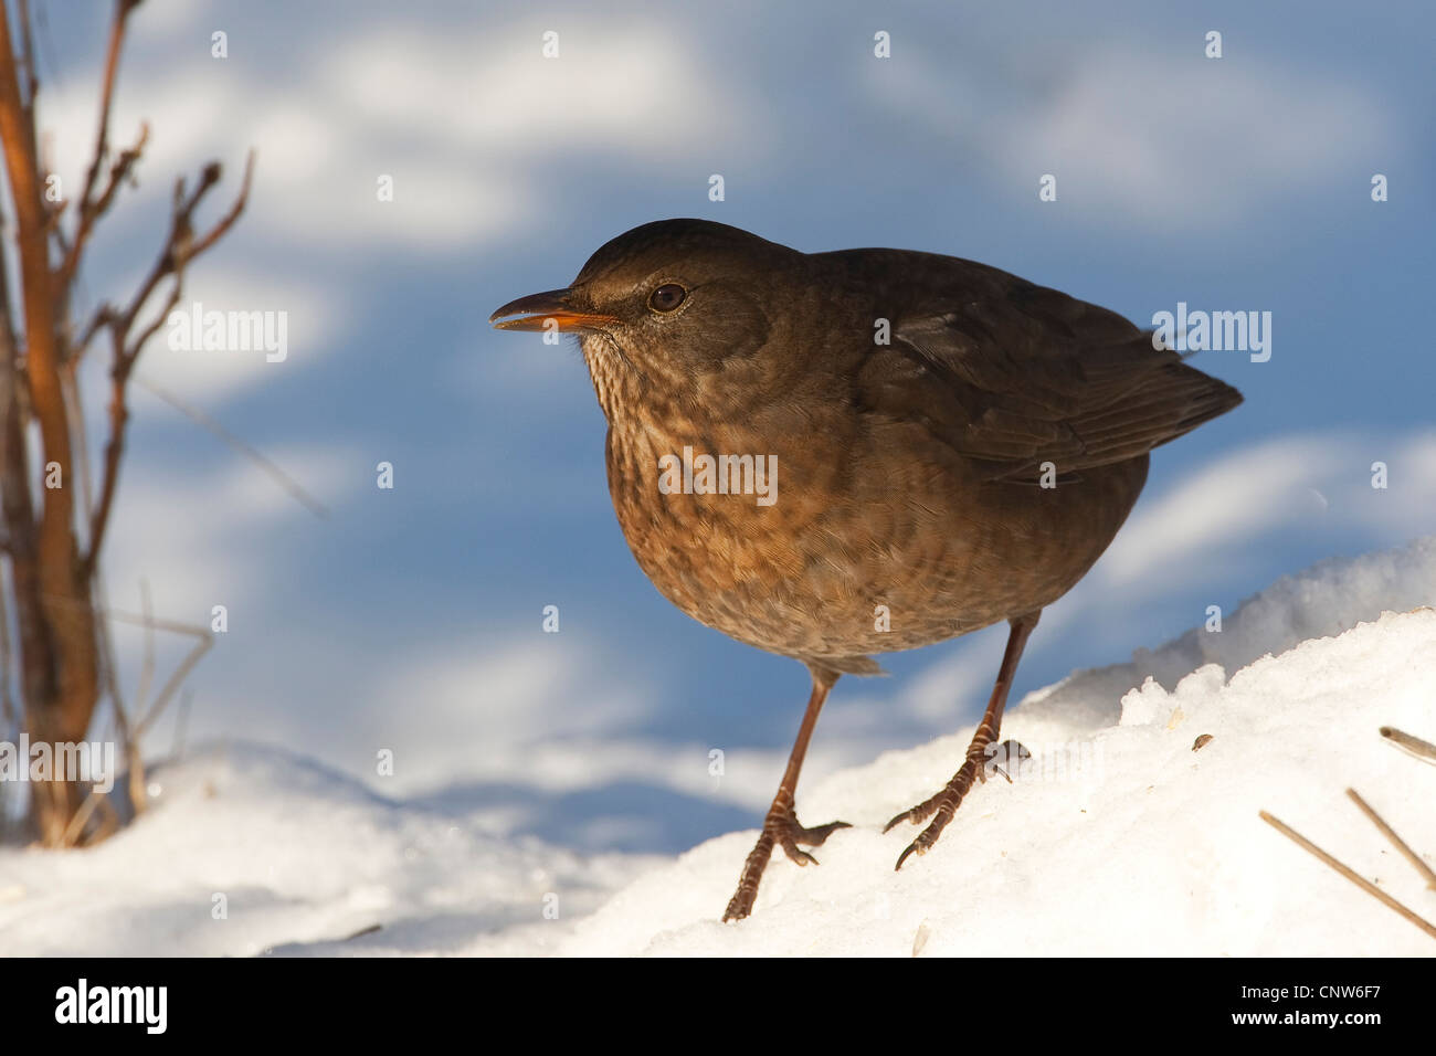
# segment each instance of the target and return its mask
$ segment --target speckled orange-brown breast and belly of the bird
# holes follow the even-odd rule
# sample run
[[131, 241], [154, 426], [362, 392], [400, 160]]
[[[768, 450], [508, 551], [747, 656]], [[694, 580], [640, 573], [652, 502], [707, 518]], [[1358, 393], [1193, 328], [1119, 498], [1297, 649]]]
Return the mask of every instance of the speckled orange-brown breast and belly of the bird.
[[[991, 484], [931, 443], [902, 445], [902, 428], [841, 443], [610, 428], [609, 488], [639, 566], [679, 609], [761, 649], [866, 672], [867, 654], [1055, 601], [1106, 549], [1146, 474], [1143, 457], [1055, 490]], [[932, 454], [886, 454], [913, 448]]]

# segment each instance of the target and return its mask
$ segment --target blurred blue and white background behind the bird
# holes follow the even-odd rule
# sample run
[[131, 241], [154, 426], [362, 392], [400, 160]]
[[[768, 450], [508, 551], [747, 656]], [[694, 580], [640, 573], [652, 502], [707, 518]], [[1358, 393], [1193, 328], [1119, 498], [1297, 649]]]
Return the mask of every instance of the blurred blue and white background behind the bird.
[[[135, 394], [112, 601], [138, 608], [144, 578], [172, 619], [230, 609], [190, 681], [191, 740], [448, 789], [493, 803], [501, 830], [570, 843], [678, 849], [757, 822], [806, 672], [656, 593], [613, 519], [576, 348], [487, 326], [662, 217], [803, 250], [971, 257], [1143, 323], [1179, 300], [1272, 313], [1269, 362], [1199, 358], [1246, 404], [1156, 454], [1117, 543], [1044, 618], [1018, 695], [1321, 557], [1433, 530], [1429, 7], [599, 9], [149, 0], [134, 16], [113, 136], [145, 118], [151, 151], [85, 290], [135, 282], [175, 175], [217, 157], [233, 188], [256, 148], [251, 207], [187, 302], [289, 312], [289, 359], [155, 342], [141, 374], [332, 510], [314, 519]], [[102, 6], [85, 10], [52, 10], [42, 46], [42, 124], [70, 180], [105, 36]], [[877, 30], [890, 59], [873, 56]], [[1222, 59], [1203, 56], [1208, 30]], [[1048, 172], [1058, 197], [1043, 203]], [[395, 201], [376, 201], [379, 174]], [[90, 366], [98, 444], [102, 358]], [[392, 491], [375, 487], [381, 460]], [[118, 644], [132, 684], [139, 639]], [[887, 657], [892, 678], [844, 680], [810, 767], [971, 723], [1001, 647], [989, 629]], [[168, 750], [168, 728], [151, 747]], [[382, 747], [392, 779], [373, 777]]]

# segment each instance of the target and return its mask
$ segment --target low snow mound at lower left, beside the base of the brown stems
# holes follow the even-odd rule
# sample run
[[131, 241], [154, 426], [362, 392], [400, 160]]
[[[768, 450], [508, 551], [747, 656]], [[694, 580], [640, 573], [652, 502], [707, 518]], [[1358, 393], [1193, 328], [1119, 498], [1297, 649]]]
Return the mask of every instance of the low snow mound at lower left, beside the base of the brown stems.
[[0, 957], [448, 954], [546, 907], [589, 912], [658, 863], [505, 839], [251, 744], [151, 779], [155, 807], [90, 851], [0, 851]]

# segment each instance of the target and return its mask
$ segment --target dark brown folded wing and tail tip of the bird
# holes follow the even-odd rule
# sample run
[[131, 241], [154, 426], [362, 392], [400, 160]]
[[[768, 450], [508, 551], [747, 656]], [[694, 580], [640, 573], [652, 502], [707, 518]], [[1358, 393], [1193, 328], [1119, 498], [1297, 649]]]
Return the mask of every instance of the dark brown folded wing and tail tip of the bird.
[[1136, 458], [1242, 401], [1114, 312], [952, 263], [965, 266], [961, 293], [949, 284], [899, 313], [879, 384], [989, 480]]

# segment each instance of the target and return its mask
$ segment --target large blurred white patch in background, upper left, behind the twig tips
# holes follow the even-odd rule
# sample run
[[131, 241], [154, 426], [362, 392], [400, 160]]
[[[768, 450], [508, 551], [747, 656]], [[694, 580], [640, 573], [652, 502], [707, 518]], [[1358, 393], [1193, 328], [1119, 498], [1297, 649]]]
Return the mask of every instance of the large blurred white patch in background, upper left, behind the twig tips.
[[[537, 30], [533, 47], [518, 45], [521, 33], [513, 23], [458, 33], [363, 23], [325, 42], [327, 60], [243, 86], [207, 50], [184, 65], [131, 62], [113, 138], [128, 144], [149, 122], [141, 174], [154, 181], [152, 201], [210, 158], [237, 174], [253, 147], [247, 227], [290, 244], [369, 249], [471, 244], [538, 221], [538, 165], [626, 157], [701, 187], [708, 170], [689, 171], [691, 159], [715, 141], [729, 165], [763, 149], [765, 122], [745, 91], [646, 20], [567, 17], [561, 57], [550, 60]], [[495, 34], [505, 34], [501, 49]], [[96, 118], [93, 76], [42, 101], [56, 168], [78, 190]], [[376, 197], [381, 174], [395, 180], [393, 201]]]

